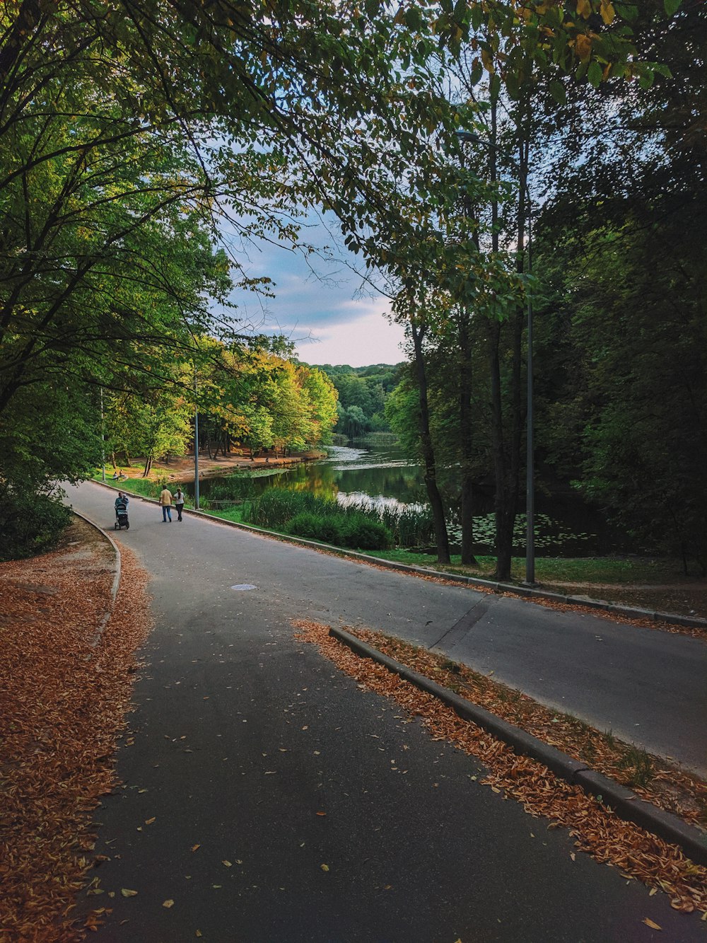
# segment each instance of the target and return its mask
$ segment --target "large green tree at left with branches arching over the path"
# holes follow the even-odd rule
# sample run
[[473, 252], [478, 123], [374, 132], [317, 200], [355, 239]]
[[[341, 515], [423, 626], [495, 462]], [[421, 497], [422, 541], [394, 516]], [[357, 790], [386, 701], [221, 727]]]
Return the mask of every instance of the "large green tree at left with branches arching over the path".
[[[611, 7], [583, 4], [604, 19]], [[0, 422], [9, 428], [13, 398], [47, 374], [85, 388], [130, 391], [144, 374], [178, 385], [168, 351], [189, 359], [208, 332], [234, 339], [217, 310], [228, 313], [238, 272], [217, 249], [224, 218], [244, 240], [291, 243], [299, 200], [336, 212], [352, 244], [371, 213], [389, 235], [390, 185], [423, 181], [427, 136], [454, 123], [432, 53], [453, 53], [486, 18], [508, 61], [519, 41], [534, 61], [552, 47], [563, 63], [611, 53], [613, 71], [641, 68], [619, 33], [609, 49], [573, 11], [539, 3], [521, 17], [493, 0], [168, 0], [158, 15], [147, 0], [5, 4]]]

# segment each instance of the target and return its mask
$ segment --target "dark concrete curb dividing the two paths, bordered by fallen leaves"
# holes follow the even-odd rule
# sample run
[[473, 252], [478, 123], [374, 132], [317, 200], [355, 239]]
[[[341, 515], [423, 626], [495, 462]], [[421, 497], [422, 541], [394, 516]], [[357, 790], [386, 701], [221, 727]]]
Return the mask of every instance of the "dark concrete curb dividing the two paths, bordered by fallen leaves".
[[424, 691], [428, 691], [443, 703], [452, 707], [459, 717], [471, 720], [473, 723], [497, 736], [504, 743], [513, 747], [516, 753], [530, 756], [540, 763], [544, 763], [557, 776], [573, 786], [581, 786], [585, 792], [596, 796], [600, 802], [616, 812], [617, 816], [626, 821], [640, 825], [647, 831], [664, 838], [671, 844], [678, 845], [682, 851], [696, 864], [707, 866], [707, 835], [699, 829], [687, 825], [682, 819], [664, 812], [650, 802], [637, 796], [626, 786], [620, 786], [614, 780], [601, 773], [589, 769], [584, 763], [572, 759], [567, 753], [562, 753], [548, 743], [543, 743], [537, 737], [527, 734], [524, 730], [514, 727], [506, 720], [496, 717], [490, 711], [478, 704], [467, 701], [466, 698], [454, 694], [447, 687], [442, 687], [430, 678], [419, 674], [388, 655], [372, 648], [366, 642], [345, 632], [343, 629], [330, 628], [329, 635], [348, 645], [355, 653], [371, 658], [373, 661], [399, 674], [406, 681]]

